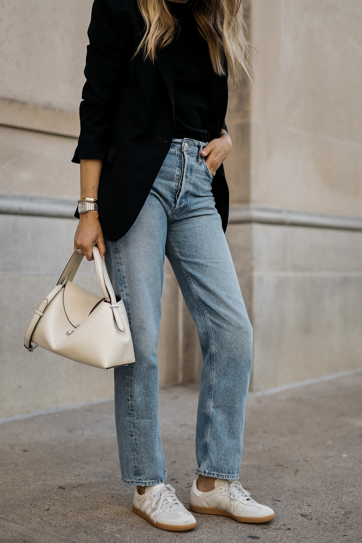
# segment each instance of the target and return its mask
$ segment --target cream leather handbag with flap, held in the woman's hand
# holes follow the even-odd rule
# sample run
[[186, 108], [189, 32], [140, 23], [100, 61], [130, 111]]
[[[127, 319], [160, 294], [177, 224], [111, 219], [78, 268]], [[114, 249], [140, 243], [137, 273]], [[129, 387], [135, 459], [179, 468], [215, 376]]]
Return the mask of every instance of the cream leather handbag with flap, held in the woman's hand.
[[56, 355], [104, 370], [132, 364], [135, 353], [125, 307], [113, 292], [96, 246], [94, 264], [104, 298], [72, 283], [83, 257], [77, 252], [72, 255], [58, 284], [31, 319], [24, 346], [32, 352], [40, 345]]

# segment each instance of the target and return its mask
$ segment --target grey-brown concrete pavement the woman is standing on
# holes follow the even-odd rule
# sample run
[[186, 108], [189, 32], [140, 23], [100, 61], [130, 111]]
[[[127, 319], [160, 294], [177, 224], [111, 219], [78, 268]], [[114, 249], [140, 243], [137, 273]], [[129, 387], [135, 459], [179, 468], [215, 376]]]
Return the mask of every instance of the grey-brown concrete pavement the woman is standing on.
[[[240, 481], [275, 510], [266, 525], [195, 514], [171, 533], [132, 513], [120, 479], [113, 403], [0, 426], [2, 543], [162, 541], [358, 543], [361, 536], [362, 376], [249, 397]], [[198, 390], [160, 393], [168, 482], [188, 507]], [[60, 488], [66, 487], [66, 488]]]

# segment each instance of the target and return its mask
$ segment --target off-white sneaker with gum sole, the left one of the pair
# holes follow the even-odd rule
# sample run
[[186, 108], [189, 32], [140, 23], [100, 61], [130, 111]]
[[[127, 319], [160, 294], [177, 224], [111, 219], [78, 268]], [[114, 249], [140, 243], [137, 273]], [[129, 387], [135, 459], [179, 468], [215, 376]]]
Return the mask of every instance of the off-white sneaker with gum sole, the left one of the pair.
[[177, 500], [175, 489], [169, 484], [155, 484], [142, 495], [136, 487], [132, 509], [162, 530], [186, 532], [196, 527], [195, 517]]

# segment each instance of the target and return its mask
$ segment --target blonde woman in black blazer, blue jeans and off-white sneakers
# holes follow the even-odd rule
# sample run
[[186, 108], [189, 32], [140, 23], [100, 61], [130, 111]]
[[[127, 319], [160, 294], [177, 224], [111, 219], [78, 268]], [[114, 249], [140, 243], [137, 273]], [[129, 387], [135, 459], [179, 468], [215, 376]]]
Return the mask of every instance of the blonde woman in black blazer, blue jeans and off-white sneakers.
[[[74, 248], [105, 255], [128, 313], [136, 363], [115, 369], [120, 468], [133, 509], [185, 531], [166, 485], [156, 346], [165, 254], [198, 327], [204, 363], [190, 509], [241, 522], [274, 512], [238, 479], [252, 329], [224, 236], [227, 74], [250, 76], [240, 0], [95, 0], [88, 29]], [[98, 205], [99, 201], [99, 205]], [[87, 211], [88, 210], [88, 211]]]

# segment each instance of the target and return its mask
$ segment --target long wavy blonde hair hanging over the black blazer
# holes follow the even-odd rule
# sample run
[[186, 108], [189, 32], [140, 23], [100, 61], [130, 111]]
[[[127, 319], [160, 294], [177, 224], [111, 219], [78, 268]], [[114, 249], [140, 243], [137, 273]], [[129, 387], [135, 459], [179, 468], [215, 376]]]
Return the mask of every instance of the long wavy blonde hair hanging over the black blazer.
[[[135, 55], [143, 50], [153, 62], [157, 50], [169, 45], [180, 30], [166, 0], [137, 0], [145, 22], [145, 34]], [[252, 79], [250, 44], [245, 37], [242, 0], [189, 0], [199, 33], [207, 41], [213, 70], [235, 82], [244, 72]]]

